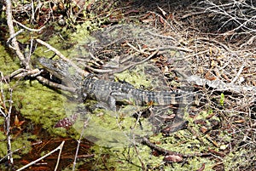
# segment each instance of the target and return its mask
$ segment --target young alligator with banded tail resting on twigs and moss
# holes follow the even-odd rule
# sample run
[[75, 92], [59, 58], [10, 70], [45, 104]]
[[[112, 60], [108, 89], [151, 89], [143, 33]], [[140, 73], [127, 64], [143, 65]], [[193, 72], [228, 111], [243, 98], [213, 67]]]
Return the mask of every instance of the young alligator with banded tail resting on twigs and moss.
[[116, 111], [116, 102], [129, 101], [134, 105], [177, 105], [189, 104], [191, 94], [178, 94], [168, 91], [147, 91], [134, 88], [129, 83], [109, 82], [99, 80], [76, 71], [64, 60], [49, 60], [39, 58], [39, 63], [55, 77], [58, 77], [69, 87], [77, 89], [84, 99], [105, 102], [110, 110]]

